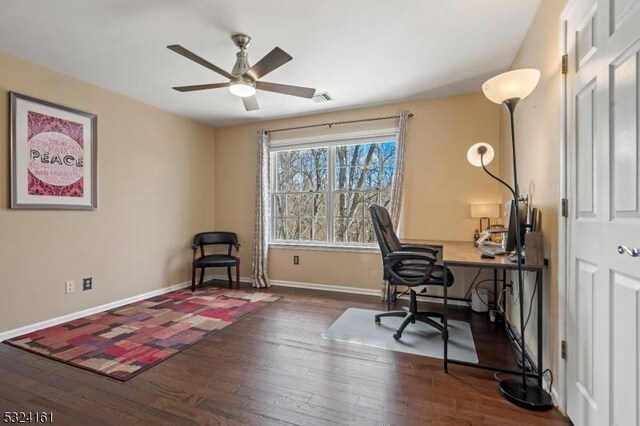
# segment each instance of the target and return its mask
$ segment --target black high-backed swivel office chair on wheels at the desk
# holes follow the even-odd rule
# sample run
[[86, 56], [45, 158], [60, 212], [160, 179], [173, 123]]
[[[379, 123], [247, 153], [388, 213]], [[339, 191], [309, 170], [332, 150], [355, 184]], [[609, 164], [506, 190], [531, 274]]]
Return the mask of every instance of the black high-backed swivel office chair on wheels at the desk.
[[[401, 317], [404, 321], [393, 337], [398, 340], [409, 325], [421, 321], [440, 330], [444, 339], [447, 330], [442, 325], [443, 316], [438, 312], [418, 311], [418, 301], [414, 288], [422, 285], [444, 286], [444, 274], [448, 274], [448, 285], [453, 284], [453, 274], [448, 268], [436, 264], [438, 250], [429, 246], [412, 246], [400, 243], [393, 230], [389, 212], [382, 206], [372, 204], [369, 213], [378, 239], [384, 265], [384, 280], [389, 286], [407, 286], [409, 288], [409, 308], [402, 311], [384, 312], [375, 316], [376, 324], [383, 317]], [[438, 318], [440, 322], [432, 318]]]

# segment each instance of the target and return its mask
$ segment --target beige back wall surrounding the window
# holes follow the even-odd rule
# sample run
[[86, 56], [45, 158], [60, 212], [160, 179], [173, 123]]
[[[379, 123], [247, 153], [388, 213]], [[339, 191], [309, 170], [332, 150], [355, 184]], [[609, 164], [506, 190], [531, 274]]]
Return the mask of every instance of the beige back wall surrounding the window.
[[[408, 125], [402, 237], [467, 241], [473, 238], [478, 224], [469, 218], [469, 203], [501, 200], [497, 184], [466, 160], [467, 149], [474, 142], [489, 141], [497, 146], [499, 107], [481, 94], [217, 128], [216, 228], [239, 234], [243, 244], [243, 276], [250, 276], [251, 271], [258, 129], [386, 116], [401, 109], [415, 114]], [[392, 121], [384, 125], [376, 123], [378, 127], [394, 125]], [[354, 130], [362, 127], [345, 125], [332, 129], [334, 132]], [[293, 134], [274, 134], [276, 136], [285, 138]], [[491, 165], [494, 172], [498, 170], [498, 163]], [[298, 266], [292, 264], [294, 254], [300, 256]], [[377, 253], [272, 249], [269, 261], [270, 278], [274, 280], [367, 289], [380, 285], [381, 261]], [[456, 278], [464, 281], [462, 273]]]

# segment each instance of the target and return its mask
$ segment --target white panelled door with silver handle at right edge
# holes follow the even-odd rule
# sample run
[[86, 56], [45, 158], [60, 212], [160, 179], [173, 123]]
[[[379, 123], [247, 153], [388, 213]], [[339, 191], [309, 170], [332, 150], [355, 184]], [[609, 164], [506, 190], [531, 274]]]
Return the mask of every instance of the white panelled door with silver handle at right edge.
[[567, 411], [640, 425], [640, 0], [568, 8]]

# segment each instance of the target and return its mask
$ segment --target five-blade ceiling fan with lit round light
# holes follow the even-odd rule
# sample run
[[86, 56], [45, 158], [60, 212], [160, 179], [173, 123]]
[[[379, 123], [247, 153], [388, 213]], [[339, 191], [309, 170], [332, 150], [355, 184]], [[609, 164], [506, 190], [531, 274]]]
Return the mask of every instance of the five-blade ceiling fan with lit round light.
[[244, 103], [244, 107], [247, 111], [260, 109], [258, 100], [255, 97], [256, 89], [283, 93], [285, 95], [299, 96], [301, 98], [310, 99], [313, 97], [316, 90], [309, 87], [290, 86], [287, 84], [260, 81], [260, 78], [293, 59], [287, 52], [279, 47], [275, 47], [271, 52], [267, 53], [264, 58], [260, 59], [258, 63], [251, 67], [249, 66], [247, 55], [247, 47], [251, 44], [251, 37], [246, 34], [234, 34], [231, 36], [231, 40], [233, 40], [235, 45], [240, 48], [240, 51], [236, 53], [236, 57], [238, 59], [236, 59], [236, 64], [234, 65], [233, 70], [231, 70], [231, 73], [213, 65], [211, 62], [201, 58], [179, 44], [167, 46], [168, 49], [173, 50], [177, 54], [182, 55], [187, 59], [191, 59], [203, 67], [209, 68], [210, 70], [229, 79], [227, 83], [178, 86], [174, 87], [174, 89], [179, 92], [193, 92], [196, 90], [228, 87], [231, 93], [242, 98], [242, 102]]

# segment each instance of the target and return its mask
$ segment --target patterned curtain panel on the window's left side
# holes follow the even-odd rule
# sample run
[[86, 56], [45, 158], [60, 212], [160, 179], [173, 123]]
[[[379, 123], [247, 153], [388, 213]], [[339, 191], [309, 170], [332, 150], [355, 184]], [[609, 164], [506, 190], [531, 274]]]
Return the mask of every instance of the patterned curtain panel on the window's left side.
[[258, 132], [258, 164], [256, 170], [256, 213], [253, 226], [253, 253], [251, 256], [251, 285], [266, 288], [271, 284], [267, 276], [269, 231], [271, 230], [271, 203], [269, 198], [269, 134]]

